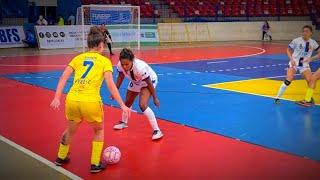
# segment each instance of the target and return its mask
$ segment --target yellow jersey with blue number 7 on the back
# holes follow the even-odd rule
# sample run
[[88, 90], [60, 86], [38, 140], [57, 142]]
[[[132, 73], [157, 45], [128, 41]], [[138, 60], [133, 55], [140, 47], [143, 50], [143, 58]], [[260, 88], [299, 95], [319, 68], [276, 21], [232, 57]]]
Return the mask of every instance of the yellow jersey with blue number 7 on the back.
[[66, 100], [101, 102], [100, 88], [104, 73], [113, 72], [111, 61], [89, 51], [73, 58], [69, 66], [74, 70], [74, 80]]

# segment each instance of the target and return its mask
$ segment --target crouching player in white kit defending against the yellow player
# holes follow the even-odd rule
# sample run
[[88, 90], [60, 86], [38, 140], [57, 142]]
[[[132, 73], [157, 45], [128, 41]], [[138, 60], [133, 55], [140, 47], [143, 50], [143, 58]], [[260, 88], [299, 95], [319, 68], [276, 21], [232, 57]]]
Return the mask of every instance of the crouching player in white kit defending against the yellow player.
[[[126, 77], [130, 80], [125, 104], [131, 107], [135, 98], [139, 95], [139, 106], [143, 114], [149, 119], [153, 128], [152, 140], [157, 140], [163, 137], [157, 119], [153, 111], [149, 108], [148, 102], [152, 96], [153, 102], [157, 107], [160, 107], [160, 102], [156, 94], [156, 86], [158, 83], [157, 74], [144, 61], [134, 57], [130, 49], [124, 48], [120, 53], [120, 62], [117, 65], [119, 72], [117, 87], [120, 88], [123, 79]], [[122, 120], [114, 126], [115, 130], [121, 130], [128, 127], [128, 117], [123, 114]]]

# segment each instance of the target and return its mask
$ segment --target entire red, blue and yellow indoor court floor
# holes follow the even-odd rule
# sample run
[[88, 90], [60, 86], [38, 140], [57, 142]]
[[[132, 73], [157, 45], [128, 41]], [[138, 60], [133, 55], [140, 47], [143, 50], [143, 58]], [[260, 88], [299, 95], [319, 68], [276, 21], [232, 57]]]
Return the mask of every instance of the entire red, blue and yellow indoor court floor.
[[[89, 173], [92, 132], [84, 123], [73, 139], [67, 171], [55, 170], [84, 179], [318, 179], [319, 86], [311, 108], [294, 103], [307, 87], [299, 75], [279, 105], [272, 99], [288, 64], [286, 47], [286, 42], [233, 42], [137, 51], [159, 76], [161, 107], [150, 104], [164, 139], [150, 141], [151, 129], [140, 113], [133, 115], [128, 129], [113, 131], [120, 110], [103, 86], [105, 145], [120, 148], [121, 162], [100, 174]], [[63, 68], [76, 54], [1, 53], [0, 135], [41, 156], [50, 167], [66, 122], [63, 108], [55, 112], [49, 103]], [[117, 58], [111, 57], [113, 64]], [[316, 70], [320, 63], [311, 66]], [[122, 95], [125, 89], [126, 84]], [[133, 108], [138, 110], [136, 104]]]

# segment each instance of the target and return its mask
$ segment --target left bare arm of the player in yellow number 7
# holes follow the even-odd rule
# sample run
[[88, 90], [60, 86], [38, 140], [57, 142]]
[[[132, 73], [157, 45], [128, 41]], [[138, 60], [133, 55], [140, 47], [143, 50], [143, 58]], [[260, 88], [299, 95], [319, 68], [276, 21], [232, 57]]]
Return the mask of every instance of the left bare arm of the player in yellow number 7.
[[60, 80], [59, 80], [59, 83], [57, 86], [56, 94], [50, 104], [50, 106], [53, 109], [59, 109], [60, 99], [61, 99], [63, 89], [66, 85], [67, 80], [69, 79], [69, 77], [71, 76], [72, 73], [73, 73], [73, 69], [70, 66], [67, 66], [66, 69], [63, 71], [63, 74], [60, 77]]

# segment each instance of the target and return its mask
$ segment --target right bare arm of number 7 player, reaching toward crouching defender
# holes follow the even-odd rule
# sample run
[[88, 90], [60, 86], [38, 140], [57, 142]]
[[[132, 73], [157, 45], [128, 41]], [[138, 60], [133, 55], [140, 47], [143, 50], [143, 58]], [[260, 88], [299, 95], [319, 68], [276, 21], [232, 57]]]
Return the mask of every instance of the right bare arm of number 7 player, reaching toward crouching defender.
[[112, 73], [111, 72], [105, 72], [104, 73], [104, 79], [106, 80], [107, 87], [111, 93], [111, 96], [117, 101], [122, 111], [127, 115], [127, 117], [130, 116], [131, 109], [128, 108], [124, 103], [120, 96], [119, 90], [116, 87], [116, 85], [113, 82]]

